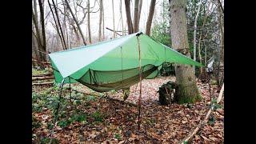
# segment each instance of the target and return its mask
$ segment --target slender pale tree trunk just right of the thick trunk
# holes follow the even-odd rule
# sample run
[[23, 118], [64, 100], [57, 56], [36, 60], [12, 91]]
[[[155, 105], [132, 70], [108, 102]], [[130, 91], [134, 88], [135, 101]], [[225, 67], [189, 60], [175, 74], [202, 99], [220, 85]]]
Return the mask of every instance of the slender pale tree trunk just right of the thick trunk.
[[[197, 11], [197, 15], [195, 16], [194, 18], [194, 45], [193, 45], [193, 48], [194, 48], [194, 54], [193, 54], [193, 59], [194, 61], [197, 60], [197, 23], [198, 23], [198, 15], [199, 15], [199, 12], [200, 12], [200, 8], [201, 8], [201, 0], [199, 1], [199, 6], [198, 6], [198, 11]], [[195, 74], [195, 67], [193, 66], [193, 70], [194, 70], [194, 74]]]

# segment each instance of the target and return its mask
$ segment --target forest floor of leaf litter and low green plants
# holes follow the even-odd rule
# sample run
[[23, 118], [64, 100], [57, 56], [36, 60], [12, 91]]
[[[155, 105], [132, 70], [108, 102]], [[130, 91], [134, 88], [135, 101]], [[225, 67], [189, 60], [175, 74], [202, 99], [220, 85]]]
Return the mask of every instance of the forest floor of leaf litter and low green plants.
[[[54, 126], [54, 110], [58, 103], [58, 86], [33, 86], [32, 142], [46, 143], [178, 143], [194, 130], [210, 109], [209, 86], [198, 82], [202, 101], [194, 104], [160, 106], [158, 87], [174, 77], [158, 77], [142, 81], [141, 128], [138, 130], [137, 104], [139, 85], [131, 86], [125, 102], [104, 98], [81, 84], [64, 85], [58, 124]], [[218, 98], [217, 86], [211, 86], [212, 98]], [[93, 94], [91, 94], [93, 93]], [[99, 97], [94, 96], [98, 94]], [[120, 91], [107, 93], [122, 100]], [[210, 121], [192, 138], [192, 143], [224, 143], [224, 98], [212, 112]]]

